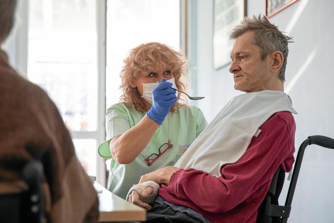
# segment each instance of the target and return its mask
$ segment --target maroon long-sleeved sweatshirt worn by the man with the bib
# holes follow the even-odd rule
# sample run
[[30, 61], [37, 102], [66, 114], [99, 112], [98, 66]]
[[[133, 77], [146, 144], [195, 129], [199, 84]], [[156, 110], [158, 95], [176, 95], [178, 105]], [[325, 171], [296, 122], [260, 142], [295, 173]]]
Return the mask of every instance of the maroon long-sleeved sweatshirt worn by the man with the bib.
[[292, 169], [296, 124], [292, 114], [284, 111], [272, 115], [260, 129], [237, 162], [222, 166], [220, 177], [181, 169], [168, 186], [162, 185], [159, 195], [198, 211], [213, 223], [256, 222], [277, 168]]

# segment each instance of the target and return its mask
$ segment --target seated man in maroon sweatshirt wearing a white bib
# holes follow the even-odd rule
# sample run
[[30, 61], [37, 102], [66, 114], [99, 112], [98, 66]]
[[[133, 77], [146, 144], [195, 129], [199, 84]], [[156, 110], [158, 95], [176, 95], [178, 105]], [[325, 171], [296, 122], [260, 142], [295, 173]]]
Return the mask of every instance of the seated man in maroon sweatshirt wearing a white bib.
[[[142, 176], [130, 190], [128, 200], [147, 208], [148, 221], [256, 222], [275, 171], [292, 169], [297, 112], [283, 92], [291, 38], [260, 15], [245, 17], [230, 39], [234, 88], [246, 93], [227, 103], [174, 166]], [[161, 185], [150, 204], [157, 185], [146, 181]]]

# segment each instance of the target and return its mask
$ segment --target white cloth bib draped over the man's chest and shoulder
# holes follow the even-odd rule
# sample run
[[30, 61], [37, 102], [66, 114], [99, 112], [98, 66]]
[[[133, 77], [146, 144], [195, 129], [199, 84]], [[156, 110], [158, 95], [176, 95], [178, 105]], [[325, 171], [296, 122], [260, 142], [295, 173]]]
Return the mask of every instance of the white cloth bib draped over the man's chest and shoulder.
[[174, 166], [221, 176], [220, 168], [245, 153], [259, 127], [277, 112], [297, 114], [282, 91], [264, 90], [232, 98], [216, 115]]

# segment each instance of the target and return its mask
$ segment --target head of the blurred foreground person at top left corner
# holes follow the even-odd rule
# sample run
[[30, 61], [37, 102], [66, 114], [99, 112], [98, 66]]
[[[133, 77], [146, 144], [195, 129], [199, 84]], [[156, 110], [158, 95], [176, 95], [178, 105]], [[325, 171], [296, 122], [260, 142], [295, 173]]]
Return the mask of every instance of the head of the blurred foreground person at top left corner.
[[14, 26], [16, 0], [0, 0], [0, 41], [4, 41]]

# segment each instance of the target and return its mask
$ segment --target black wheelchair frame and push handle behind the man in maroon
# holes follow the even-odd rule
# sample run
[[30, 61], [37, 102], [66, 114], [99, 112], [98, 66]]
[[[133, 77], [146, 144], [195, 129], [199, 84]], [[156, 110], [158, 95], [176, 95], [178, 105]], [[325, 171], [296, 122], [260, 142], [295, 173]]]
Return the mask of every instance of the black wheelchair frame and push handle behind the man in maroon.
[[285, 172], [279, 167], [274, 174], [268, 193], [259, 207], [256, 223], [287, 223], [304, 151], [311, 144], [334, 149], [334, 139], [322, 135], [309, 136], [299, 147], [285, 205], [278, 204], [285, 178]]

